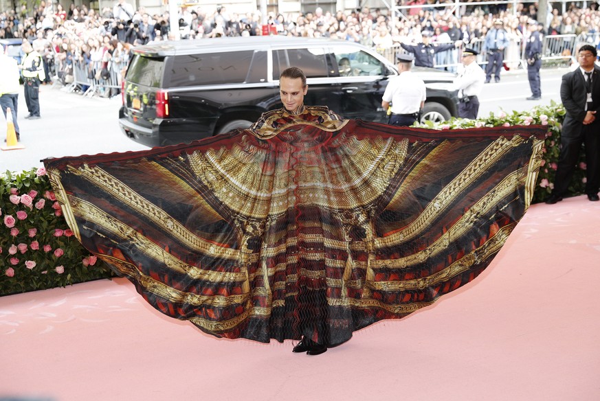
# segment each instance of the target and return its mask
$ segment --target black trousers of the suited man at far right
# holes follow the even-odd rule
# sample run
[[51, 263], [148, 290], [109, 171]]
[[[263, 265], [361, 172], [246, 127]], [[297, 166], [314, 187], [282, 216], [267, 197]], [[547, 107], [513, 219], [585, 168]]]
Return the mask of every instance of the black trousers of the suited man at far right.
[[581, 124], [581, 133], [574, 137], [560, 137], [560, 154], [554, 178], [553, 194], [563, 196], [573, 179], [581, 145], [586, 150], [586, 194], [597, 194], [600, 187], [600, 123]]

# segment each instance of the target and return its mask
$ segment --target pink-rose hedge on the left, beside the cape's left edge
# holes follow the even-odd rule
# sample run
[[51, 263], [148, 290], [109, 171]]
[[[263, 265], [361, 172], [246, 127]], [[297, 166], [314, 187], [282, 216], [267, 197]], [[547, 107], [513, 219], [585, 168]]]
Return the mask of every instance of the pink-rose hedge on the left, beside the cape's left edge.
[[0, 295], [111, 276], [67, 227], [43, 168], [0, 176]]

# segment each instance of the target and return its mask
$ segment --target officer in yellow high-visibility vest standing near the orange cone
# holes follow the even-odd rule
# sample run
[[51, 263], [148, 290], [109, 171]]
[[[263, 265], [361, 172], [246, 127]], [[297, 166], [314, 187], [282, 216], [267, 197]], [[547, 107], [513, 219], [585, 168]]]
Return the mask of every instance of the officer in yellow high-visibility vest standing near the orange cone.
[[23, 62], [19, 66], [23, 70], [23, 89], [25, 91], [25, 103], [29, 115], [25, 118], [40, 118], [40, 82], [46, 78], [42, 56], [33, 49], [32, 45], [23, 40], [21, 49], [25, 52]]

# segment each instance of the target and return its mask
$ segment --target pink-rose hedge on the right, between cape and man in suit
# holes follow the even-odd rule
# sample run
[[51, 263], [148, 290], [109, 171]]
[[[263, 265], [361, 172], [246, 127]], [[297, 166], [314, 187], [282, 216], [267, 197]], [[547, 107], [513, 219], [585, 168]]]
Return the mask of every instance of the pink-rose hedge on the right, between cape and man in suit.
[[[562, 104], [551, 101], [549, 106], [535, 106], [531, 111], [513, 111], [506, 113], [501, 111], [497, 115], [490, 113], [487, 117], [478, 119], [460, 119], [452, 118], [447, 122], [433, 123], [430, 121], [424, 124], [415, 124], [421, 128], [431, 128], [436, 130], [456, 130], [463, 128], [479, 127], [499, 127], [499, 126], [529, 126], [542, 125], [548, 127], [546, 136], [544, 159], [540, 174], [537, 176], [533, 200], [531, 203], [544, 202], [550, 196], [554, 187], [554, 176], [559, 155], [560, 130], [564, 120], [565, 110]], [[583, 194], [586, 183], [586, 163], [583, 152], [579, 155], [579, 163], [569, 185], [569, 194]]]

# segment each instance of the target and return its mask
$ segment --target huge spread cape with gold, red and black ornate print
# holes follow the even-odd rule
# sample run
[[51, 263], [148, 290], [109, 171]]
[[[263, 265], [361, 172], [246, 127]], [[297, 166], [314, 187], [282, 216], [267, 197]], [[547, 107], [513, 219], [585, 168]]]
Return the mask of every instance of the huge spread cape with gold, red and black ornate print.
[[529, 207], [545, 130], [330, 117], [45, 164], [82, 244], [161, 312], [337, 345], [485, 269]]

